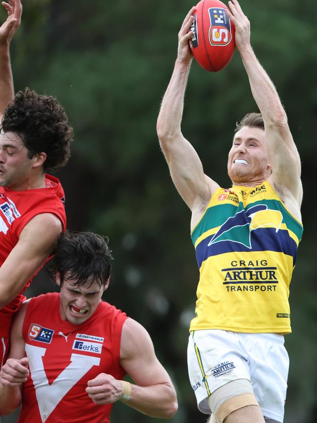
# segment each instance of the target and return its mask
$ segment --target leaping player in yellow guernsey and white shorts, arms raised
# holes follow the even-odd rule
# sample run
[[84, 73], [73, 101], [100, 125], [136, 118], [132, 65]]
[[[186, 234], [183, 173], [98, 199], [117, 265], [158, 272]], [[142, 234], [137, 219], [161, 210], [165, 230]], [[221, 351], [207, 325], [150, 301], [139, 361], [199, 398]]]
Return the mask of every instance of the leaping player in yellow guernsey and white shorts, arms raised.
[[250, 45], [237, 0], [227, 15], [260, 113], [238, 124], [228, 156], [229, 189], [204, 174], [181, 133], [192, 61], [192, 8], [178, 34], [178, 56], [158, 116], [160, 146], [192, 211], [199, 267], [188, 371], [210, 422], [283, 422], [291, 332], [289, 285], [302, 235], [300, 159], [277, 91]]

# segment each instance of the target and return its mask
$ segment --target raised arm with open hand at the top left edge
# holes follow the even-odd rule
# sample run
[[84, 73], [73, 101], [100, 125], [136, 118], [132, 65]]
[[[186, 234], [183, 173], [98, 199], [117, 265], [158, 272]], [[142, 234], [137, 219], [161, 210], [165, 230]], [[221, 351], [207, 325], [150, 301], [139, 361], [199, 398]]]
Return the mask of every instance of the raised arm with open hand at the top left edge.
[[21, 23], [20, 0], [2, 2], [8, 12], [7, 20], [0, 26], [0, 121], [8, 103], [14, 98], [13, 77], [10, 63], [10, 41]]

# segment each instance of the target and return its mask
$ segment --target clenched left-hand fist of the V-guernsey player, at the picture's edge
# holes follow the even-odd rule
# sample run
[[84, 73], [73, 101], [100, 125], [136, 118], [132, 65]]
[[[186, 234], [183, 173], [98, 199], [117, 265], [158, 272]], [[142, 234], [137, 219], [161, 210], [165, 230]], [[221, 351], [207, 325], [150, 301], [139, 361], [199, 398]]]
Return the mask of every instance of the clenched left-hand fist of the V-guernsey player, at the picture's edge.
[[14, 387], [26, 382], [29, 375], [29, 360], [23, 357], [20, 360], [8, 359], [0, 371], [0, 383], [5, 386]]

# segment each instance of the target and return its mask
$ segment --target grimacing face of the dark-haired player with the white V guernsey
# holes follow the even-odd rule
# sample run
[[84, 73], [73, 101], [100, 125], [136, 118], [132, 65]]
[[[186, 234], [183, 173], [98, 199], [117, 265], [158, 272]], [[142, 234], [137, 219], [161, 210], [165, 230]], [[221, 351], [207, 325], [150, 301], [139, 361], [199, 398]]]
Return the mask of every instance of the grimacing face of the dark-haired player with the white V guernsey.
[[[109, 278], [110, 279], [110, 278]], [[96, 311], [103, 292], [108, 288], [109, 279], [105, 285], [98, 282], [76, 285], [75, 280], [67, 279], [60, 285], [60, 275], [57, 273], [56, 282], [60, 286], [59, 314], [62, 320], [73, 324], [81, 324], [88, 320]]]

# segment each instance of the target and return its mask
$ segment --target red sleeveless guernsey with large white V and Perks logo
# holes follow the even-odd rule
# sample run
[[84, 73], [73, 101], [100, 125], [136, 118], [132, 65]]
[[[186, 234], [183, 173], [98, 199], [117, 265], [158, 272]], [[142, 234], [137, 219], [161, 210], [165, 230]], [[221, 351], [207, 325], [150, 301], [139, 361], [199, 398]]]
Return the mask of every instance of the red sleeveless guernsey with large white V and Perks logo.
[[100, 373], [123, 379], [122, 325], [127, 319], [100, 302], [84, 323], [60, 319], [59, 294], [32, 298], [23, 322], [30, 376], [24, 384], [19, 423], [107, 423], [113, 404], [96, 405], [85, 392]]

